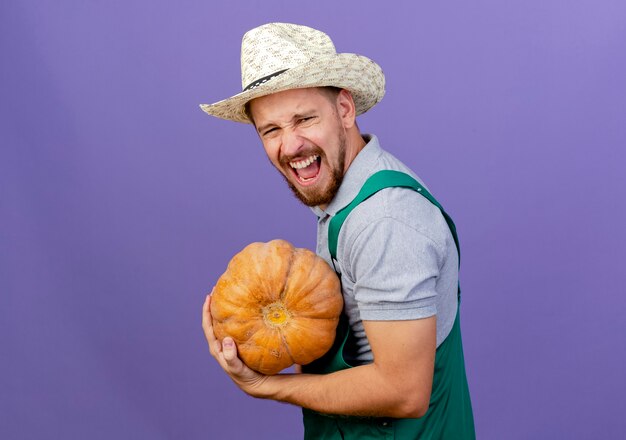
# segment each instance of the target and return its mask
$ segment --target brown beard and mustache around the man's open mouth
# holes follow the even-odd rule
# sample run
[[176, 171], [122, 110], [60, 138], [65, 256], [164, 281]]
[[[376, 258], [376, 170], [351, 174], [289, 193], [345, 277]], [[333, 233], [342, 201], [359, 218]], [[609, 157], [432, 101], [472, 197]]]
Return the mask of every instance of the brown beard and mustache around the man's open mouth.
[[[322, 164], [330, 171], [330, 180], [323, 188], [317, 189], [307, 189], [305, 191], [298, 188], [290, 179], [287, 177], [286, 173], [280, 172], [283, 176], [287, 185], [293, 192], [293, 195], [304, 203], [306, 206], [319, 206], [319, 205], [328, 205], [339, 191], [339, 187], [341, 186], [341, 182], [343, 181], [343, 170], [346, 162], [346, 135], [343, 132], [339, 132], [338, 135], [338, 150], [337, 150], [337, 163], [336, 166], [332, 166], [330, 162], [328, 162], [328, 158], [326, 154], [319, 148], [315, 148], [310, 152], [310, 154], [318, 154], [320, 167]], [[307, 153], [309, 154], [309, 153]], [[289, 159], [283, 158], [281, 161], [283, 166], [289, 167]], [[279, 170], [280, 171], [280, 170]]]

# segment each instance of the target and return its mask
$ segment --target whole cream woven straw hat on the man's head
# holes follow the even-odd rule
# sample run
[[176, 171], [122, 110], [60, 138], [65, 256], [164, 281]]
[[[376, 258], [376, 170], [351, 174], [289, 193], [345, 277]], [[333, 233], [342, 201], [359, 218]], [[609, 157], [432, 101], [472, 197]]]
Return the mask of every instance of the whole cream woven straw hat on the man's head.
[[378, 64], [361, 55], [337, 53], [325, 33], [307, 26], [269, 23], [248, 31], [241, 42], [243, 91], [200, 108], [211, 116], [250, 123], [246, 103], [289, 89], [334, 86], [352, 93], [357, 114], [385, 94]]

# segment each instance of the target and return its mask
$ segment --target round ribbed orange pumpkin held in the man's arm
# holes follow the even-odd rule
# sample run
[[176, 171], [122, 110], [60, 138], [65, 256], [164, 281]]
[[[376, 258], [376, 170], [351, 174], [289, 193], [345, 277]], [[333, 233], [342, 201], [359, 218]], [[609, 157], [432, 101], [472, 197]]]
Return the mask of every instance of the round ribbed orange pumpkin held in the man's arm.
[[211, 295], [213, 331], [230, 336], [253, 370], [306, 365], [332, 346], [343, 297], [328, 263], [285, 240], [252, 243], [235, 255]]

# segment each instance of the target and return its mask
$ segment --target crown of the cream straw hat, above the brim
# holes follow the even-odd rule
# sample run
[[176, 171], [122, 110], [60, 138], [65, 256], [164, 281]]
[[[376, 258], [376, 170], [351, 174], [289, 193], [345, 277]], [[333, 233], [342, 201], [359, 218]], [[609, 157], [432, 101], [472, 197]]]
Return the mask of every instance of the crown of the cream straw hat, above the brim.
[[308, 26], [269, 23], [254, 28], [241, 42], [241, 86], [245, 89], [261, 78], [335, 55], [328, 35]]

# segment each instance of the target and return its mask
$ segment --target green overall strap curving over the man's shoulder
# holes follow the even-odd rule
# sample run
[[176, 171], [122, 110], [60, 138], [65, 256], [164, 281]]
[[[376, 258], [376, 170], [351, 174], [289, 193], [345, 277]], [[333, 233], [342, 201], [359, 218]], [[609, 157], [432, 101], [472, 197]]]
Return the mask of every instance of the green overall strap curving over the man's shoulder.
[[461, 264], [461, 249], [459, 247], [459, 238], [456, 234], [456, 226], [452, 218], [444, 211], [443, 207], [435, 200], [435, 198], [424, 188], [417, 180], [401, 171], [382, 170], [372, 174], [361, 187], [357, 196], [347, 206], [340, 209], [337, 214], [330, 220], [328, 224], [328, 250], [334, 260], [337, 260], [337, 242], [339, 239], [339, 231], [343, 222], [346, 220], [350, 212], [361, 202], [376, 194], [381, 189], [390, 187], [411, 188], [426, 197], [433, 205], [435, 205], [446, 220], [457, 252], [459, 253], [459, 265]]

